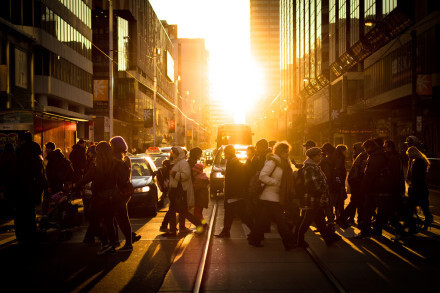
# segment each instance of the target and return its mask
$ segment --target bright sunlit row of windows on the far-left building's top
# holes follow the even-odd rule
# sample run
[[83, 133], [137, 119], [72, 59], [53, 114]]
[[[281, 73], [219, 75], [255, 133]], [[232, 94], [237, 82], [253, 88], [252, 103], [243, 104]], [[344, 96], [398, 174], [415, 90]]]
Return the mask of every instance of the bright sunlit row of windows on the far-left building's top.
[[71, 47], [73, 50], [91, 60], [92, 42], [79, 33], [68, 22], [62, 19], [45, 5], [41, 5], [40, 11], [36, 10], [36, 19], [41, 21], [41, 28], [58, 41]]

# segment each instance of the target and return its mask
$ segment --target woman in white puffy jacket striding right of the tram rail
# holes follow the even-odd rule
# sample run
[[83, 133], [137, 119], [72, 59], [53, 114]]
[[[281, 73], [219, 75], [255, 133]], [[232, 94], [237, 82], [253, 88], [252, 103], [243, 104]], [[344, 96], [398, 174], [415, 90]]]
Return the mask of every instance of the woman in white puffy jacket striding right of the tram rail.
[[261, 170], [259, 178], [265, 187], [260, 195], [256, 225], [248, 237], [248, 242], [252, 246], [263, 246], [261, 240], [264, 239], [264, 223], [266, 219], [272, 218], [278, 226], [278, 233], [283, 240], [284, 248], [290, 250], [294, 247], [293, 233], [286, 222], [281, 204], [286, 202], [286, 195], [280, 192], [283, 181], [293, 180], [293, 178], [287, 178], [292, 175], [289, 151], [290, 145], [287, 142], [277, 143], [274, 147], [274, 154], [267, 155], [266, 163]]

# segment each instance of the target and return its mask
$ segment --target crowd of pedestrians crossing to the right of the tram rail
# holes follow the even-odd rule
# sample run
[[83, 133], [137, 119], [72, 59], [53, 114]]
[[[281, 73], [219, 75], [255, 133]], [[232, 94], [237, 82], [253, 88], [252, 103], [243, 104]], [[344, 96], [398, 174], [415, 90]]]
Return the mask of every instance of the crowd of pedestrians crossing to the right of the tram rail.
[[[304, 234], [312, 222], [327, 245], [341, 239], [336, 227], [345, 230], [357, 225], [361, 232], [356, 238], [381, 236], [389, 228], [394, 239], [399, 239], [417, 232], [417, 227], [426, 230], [433, 222], [426, 182], [430, 163], [415, 137], [406, 142], [406, 178], [404, 158], [391, 140], [355, 143], [348, 177], [346, 166], [351, 158], [347, 158], [345, 145], [316, 147], [315, 142], [307, 141], [307, 158], [302, 164], [289, 160], [287, 142], [272, 145], [260, 139], [255, 147], [248, 147], [245, 163], [235, 156], [234, 146], [224, 148], [225, 216], [217, 237], [230, 237], [234, 215], [249, 227], [248, 242], [255, 247], [263, 246], [264, 233], [274, 221], [286, 250], [308, 246]], [[346, 182], [351, 197], [345, 207]], [[424, 220], [418, 219], [417, 206]]]

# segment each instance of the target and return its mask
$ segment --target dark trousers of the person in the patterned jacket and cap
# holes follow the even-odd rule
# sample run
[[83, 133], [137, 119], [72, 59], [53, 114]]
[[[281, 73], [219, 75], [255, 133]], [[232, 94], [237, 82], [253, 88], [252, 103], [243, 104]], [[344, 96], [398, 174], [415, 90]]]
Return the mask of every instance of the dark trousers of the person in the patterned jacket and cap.
[[299, 223], [296, 226], [294, 233], [296, 244], [301, 245], [304, 243], [304, 234], [307, 232], [312, 222], [315, 222], [316, 228], [318, 228], [324, 241], [327, 242], [330, 239], [333, 232], [330, 231], [325, 224], [324, 208], [313, 207], [301, 210], [301, 218], [299, 219]]

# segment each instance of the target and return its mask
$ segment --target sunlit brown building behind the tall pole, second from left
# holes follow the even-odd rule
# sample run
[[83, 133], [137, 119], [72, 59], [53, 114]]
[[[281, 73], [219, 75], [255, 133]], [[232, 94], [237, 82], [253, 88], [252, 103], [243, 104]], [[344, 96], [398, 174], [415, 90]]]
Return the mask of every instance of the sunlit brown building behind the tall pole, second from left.
[[[153, 143], [156, 92], [156, 146], [174, 141], [173, 44], [149, 1], [113, 2], [113, 135], [131, 148]], [[109, 2], [93, 2], [95, 141], [109, 138]], [[156, 83], [155, 83], [156, 81]], [[98, 90], [100, 89], [100, 90]]]

